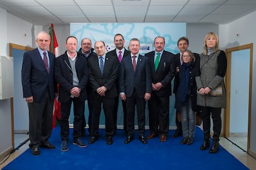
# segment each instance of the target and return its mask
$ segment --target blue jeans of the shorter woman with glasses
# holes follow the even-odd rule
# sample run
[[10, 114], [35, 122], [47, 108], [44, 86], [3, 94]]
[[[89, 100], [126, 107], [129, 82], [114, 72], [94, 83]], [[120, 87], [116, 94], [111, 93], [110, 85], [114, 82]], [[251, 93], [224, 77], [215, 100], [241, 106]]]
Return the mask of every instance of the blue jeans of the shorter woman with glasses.
[[191, 98], [181, 108], [182, 134], [184, 137], [194, 137], [195, 134], [195, 111], [191, 107]]

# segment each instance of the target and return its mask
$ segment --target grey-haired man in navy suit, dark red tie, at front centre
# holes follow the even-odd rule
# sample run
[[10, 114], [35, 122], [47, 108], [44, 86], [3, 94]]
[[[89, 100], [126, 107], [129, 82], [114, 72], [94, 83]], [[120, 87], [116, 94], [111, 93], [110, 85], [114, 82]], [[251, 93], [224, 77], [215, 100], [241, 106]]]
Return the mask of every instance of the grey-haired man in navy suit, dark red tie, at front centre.
[[127, 136], [125, 144], [134, 139], [135, 106], [139, 126], [139, 139], [142, 144], [147, 144], [145, 135], [145, 105], [151, 97], [151, 76], [148, 67], [148, 58], [139, 54], [140, 41], [130, 39], [130, 55], [121, 62], [119, 75], [119, 92], [122, 100], [126, 101]]

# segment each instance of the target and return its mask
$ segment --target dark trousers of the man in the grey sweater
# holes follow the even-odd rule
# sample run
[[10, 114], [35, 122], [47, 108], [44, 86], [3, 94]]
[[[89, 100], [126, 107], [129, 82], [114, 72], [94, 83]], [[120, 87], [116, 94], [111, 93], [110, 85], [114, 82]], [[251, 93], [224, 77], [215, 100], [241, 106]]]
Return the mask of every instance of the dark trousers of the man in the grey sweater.
[[74, 131], [73, 139], [82, 137], [83, 114], [85, 110], [85, 101], [77, 97], [69, 98], [66, 103], [61, 103], [61, 140], [69, 140], [69, 115], [71, 104], [74, 107]]

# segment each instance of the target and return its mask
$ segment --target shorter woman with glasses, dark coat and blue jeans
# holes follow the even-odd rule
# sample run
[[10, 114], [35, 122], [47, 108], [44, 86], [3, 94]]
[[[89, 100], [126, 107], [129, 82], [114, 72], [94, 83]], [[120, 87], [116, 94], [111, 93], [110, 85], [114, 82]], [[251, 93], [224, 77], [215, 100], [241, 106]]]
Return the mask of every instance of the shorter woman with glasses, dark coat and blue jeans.
[[192, 144], [195, 134], [195, 114], [197, 111], [197, 86], [195, 70], [197, 60], [187, 50], [182, 54], [182, 65], [179, 66], [175, 108], [181, 111], [183, 139], [181, 144]]

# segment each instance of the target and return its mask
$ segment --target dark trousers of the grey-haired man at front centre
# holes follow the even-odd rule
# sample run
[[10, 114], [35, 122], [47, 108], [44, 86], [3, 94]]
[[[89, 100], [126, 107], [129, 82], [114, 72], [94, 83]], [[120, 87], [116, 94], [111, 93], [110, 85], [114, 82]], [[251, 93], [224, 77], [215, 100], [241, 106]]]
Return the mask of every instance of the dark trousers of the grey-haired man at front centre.
[[127, 132], [128, 136], [134, 136], [134, 116], [135, 116], [135, 106], [137, 108], [137, 118], [139, 126], [139, 136], [144, 136], [145, 134], [145, 99], [140, 98], [135, 89], [131, 97], [126, 97], [126, 113], [127, 113]]

